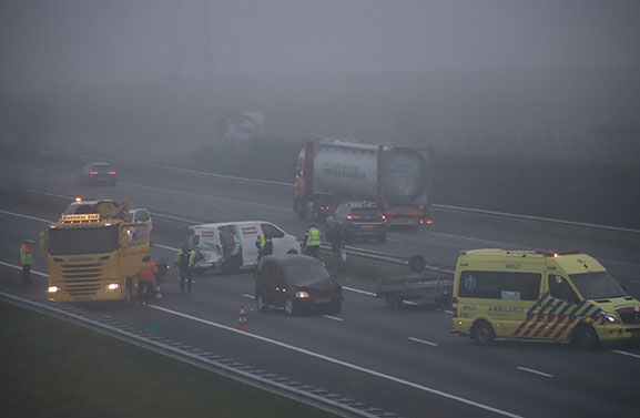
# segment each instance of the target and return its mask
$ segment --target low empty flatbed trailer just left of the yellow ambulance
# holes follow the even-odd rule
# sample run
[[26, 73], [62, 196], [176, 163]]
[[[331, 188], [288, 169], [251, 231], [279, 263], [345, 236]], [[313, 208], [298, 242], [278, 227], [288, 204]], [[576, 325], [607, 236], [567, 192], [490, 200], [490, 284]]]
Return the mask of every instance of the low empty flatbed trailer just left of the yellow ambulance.
[[418, 304], [436, 303], [450, 309], [454, 277], [443, 273], [421, 272], [376, 281], [376, 297], [384, 298], [387, 306], [398, 308], [403, 302]]

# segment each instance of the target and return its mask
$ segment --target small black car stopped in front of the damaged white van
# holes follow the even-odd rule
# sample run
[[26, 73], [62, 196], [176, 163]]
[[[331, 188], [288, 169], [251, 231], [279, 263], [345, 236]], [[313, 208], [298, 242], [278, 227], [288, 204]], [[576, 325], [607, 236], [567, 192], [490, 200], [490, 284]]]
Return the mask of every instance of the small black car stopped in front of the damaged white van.
[[343, 288], [325, 266], [306, 255], [267, 255], [254, 272], [255, 300], [261, 312], [270, 306], [284, 308], [286, 315], [305, 309], [342, 310]]

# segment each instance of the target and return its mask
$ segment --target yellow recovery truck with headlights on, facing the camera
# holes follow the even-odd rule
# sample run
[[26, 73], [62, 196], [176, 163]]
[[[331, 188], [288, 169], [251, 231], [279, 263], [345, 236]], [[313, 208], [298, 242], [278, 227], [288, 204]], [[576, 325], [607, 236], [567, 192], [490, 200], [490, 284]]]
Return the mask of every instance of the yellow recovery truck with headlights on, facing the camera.
[[151, 263], [149, 225], [129, 220], [129, 205], [98, 201], [63, 214], [40, 234], [48, 256], [48, 297], [60, 302], [132, 304], [138, 273]]

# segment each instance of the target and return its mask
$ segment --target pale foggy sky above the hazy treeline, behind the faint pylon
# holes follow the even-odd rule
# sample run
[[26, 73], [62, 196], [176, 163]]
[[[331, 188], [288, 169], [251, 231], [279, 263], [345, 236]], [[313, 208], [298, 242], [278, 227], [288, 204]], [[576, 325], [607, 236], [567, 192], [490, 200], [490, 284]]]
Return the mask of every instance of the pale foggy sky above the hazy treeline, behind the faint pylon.
[[[0, 86], [203, 71], [194, 0], [2, 0]], [[216, 75], [640, 68], [640, 1], [209, 1]]]

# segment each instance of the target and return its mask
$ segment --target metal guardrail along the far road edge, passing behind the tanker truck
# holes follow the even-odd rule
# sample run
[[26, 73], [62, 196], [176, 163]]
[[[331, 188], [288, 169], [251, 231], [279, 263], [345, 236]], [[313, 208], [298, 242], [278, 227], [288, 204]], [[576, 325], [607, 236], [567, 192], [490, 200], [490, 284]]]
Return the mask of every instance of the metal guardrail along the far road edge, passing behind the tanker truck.
[[[22, 151], [33, 151], [33, 150], [26, 149], [26, 147], [13, 147], [13, 149], [14, 150], [22, 150]], [[95, 155], [83, 155], [83, 154], [67, 153], [67, 152], [59, 152], [59, 151], [52, 151], [52, 150], [42, 150], [42, 151], [51, 153], [51, 154], [59, 154], [61, 156], [74, 157], [74, 159], [81, 159], [81, 160], [92, 160], [92, 159], [93, 160], [101, 160], [100, 157], [98, 157]], [[104, 160], [104, 159], [102, 159], [102, 160]], [[206, 176], [206, 177], [212, 177], [212, 179], [224, 179], [224, 180], [234, 180], [234, 181], [238, 181], [238, 182], [270, 184], [270, 185], [282, 186], [282, 187], [293, 187], [292, 183], [276, 182], [276, 181], [271, 181], [271, 180], [238, 177], [238, 176], [232, 176], [232, 175], [201, 172], [201, 171], [195, 171], [195, 170], [172, 167], [172, 166], [166, 166], [166, 165], [142, 163], [142, 162], [129, 161], [129, 160], [111, 160], [111, 159], [108, 159], [108, 160], [113, 162], [113, 163], [118, 163], [118, 164], [145, 166], [145, 167], [152, 167], [152, 169], [156, 169], [156, 170], [166, 170], [166, 171], [172, 171], [172, 172], [176, 172], [176, 173], [193, 174], [193, 175]], [[487, 210], [481, 210], [481, 208], [458, 207], [458, 206], [441, 205], [441, 204], [433, 204], [431, 207], [440, 210], [440, 211], [461, 212], [461, 213], [469, 213], [469, 214], [475, 214], [475, 215], [488, 215], [488, 216], [505, 217], [505, 218], [512, 218], [512, 220], [519, 220], [519, 221], [544, 222], [544, 223], [551, 223], [551, 224], [559, 224], [559, 225], [603, 230], [603, 231], [610, 231], [610, 232], [640, 234], [640, 230], [632, 230], [632, 228], [624, 228], [624, 227], [619, 227], [619, 226], [610, 226], [610, 225], [601, 225], [601, 224], [590, 224], [590, 223], [566, 221], [566, 220], [556, 220], [556, 218], [541, 217], [541, 216], [520, 215], [520, 214], [506, 213], [506, 212], [487, 211]]]

